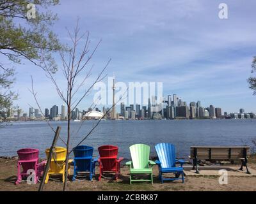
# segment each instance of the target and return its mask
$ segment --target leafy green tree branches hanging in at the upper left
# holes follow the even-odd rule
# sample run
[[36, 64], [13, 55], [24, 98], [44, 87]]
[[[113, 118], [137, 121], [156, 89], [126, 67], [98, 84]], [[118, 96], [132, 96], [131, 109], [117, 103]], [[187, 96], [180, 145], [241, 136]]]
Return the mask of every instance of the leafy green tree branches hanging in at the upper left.
[[[28, 18], [31, 3], [35, 4], [35, 18]], [[63, 47], [51, 31], [56, 14], [49, 11], [59, 0], [1, 0], [0, 1], [0, 112], [12, 106], [17, 94], [11, 91], [15, 80], [13, 64], [23, 60], [42, 67], [42, 59], [54, 64], [51, 57]], [[56, 66], [52, 66], [52, 72]]]

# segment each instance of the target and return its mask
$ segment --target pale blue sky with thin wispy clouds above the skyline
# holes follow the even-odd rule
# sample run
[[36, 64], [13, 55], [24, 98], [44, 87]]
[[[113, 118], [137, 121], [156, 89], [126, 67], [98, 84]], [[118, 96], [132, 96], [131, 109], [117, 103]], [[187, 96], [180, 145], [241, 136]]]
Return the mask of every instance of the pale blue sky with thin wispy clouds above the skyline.
[[[228, 19], [219, 18], [220, 3], [227, 4]], [[256, 97], [246, 82], [256, 55], [255, 7], [255, 0], [61, 1], [52, 8], [59, 17], [52, 31], [69, 44], [67, 29], [72, 31], [79, 17], [81, 34], [90, 31], [92, 48], [102, 40], [88, 84], [111, 58], [106, 73], [115, 73], [116, 82], [163, 82], [164, 96], [177, 94], [187, 103], [199, 100], [223, 112], [256, 112]], [[61, 66], [57, 56], [56, 62]], [[29, 62], [15, 67], [15, 104], [24, 112], [36, 107], [28, 90], [31, 75], [42, 108], [63, 104], [44, 71]], [[65, 87], [61, 71], [56, 78]], [[92, 97], [79, 108], [87, 110]]]

